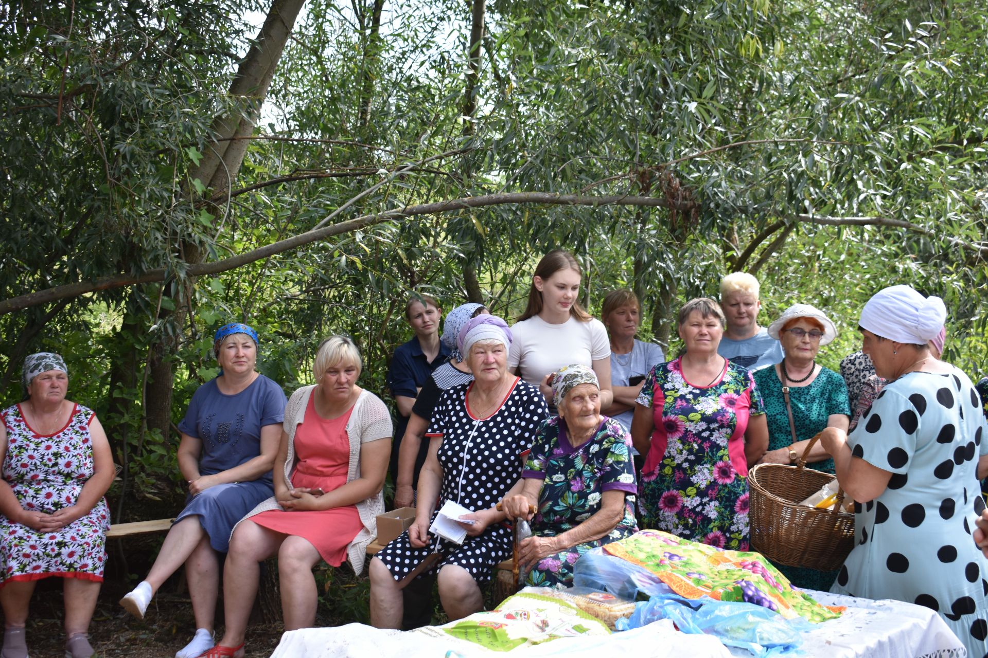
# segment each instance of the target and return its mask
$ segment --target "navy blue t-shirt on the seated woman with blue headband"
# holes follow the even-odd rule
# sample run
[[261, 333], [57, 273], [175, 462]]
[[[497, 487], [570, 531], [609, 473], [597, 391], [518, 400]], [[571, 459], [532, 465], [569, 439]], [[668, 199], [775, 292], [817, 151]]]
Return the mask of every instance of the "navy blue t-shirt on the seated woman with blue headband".
[[[218, 378], [217, 378], [218, 379]], [[214, 475], [261, 454], [261, 428], [285, 420], [285, 392], [264, 375], [232, 396], [209, 380], [193, 394], [179, 431], [203, 442], [201, 475]], [[271, 472], [258, 479], [271, 482]]]

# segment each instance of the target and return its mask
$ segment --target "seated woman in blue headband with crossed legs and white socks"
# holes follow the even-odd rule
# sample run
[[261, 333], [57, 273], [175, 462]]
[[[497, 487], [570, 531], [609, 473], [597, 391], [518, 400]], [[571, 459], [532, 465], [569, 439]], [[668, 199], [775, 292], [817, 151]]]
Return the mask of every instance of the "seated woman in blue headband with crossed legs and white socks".
[[178, 462], [189, 482], [186, 507], [176, 517], [147, 577], [121, 599], [143, 619], [165, 580], [186, 565], [196, 635], [176, 658], [199, 656], [213, 645], [212, 621], [222, 555], [233, 526], [274, 489], [271, 469], [282, 438], [285, 393], [257, 372], [257, 331], [224, 325], [213, 337], [220, 373], [196, 391], [179, 423]]

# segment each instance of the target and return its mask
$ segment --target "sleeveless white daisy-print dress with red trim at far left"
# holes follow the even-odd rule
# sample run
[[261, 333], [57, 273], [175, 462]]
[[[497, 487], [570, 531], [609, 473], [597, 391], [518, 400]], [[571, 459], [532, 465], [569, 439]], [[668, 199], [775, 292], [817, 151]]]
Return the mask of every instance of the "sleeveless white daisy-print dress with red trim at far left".
[[[68, 423], [50, 436], [36, 433], [21, 405], [0, 413], [7, 431], [3, 478], [26, 510], [44, 513], [71, 507], [93, 475], [89, 423], [95, 414], [76, 404]], [[40, 533], [0, 515], [0, 587], [11, 580], [50, 576], [102, 581], [107, 559], [110, 511], [106, 499], [89, 514], [50, 533]]]

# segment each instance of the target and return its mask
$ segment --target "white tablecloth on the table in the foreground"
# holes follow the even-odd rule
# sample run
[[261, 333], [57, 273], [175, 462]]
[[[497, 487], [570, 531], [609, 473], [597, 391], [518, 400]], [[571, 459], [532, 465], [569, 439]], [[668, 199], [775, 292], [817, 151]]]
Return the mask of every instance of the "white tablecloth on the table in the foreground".
[[[803, 633], [798, 652], [807, 658], [961, 658], [964, 649], [947, 624], [929, 608], [899, 601], [869, 601], [809, 592], [825, 605], [847, 606], [839, 619], [818, 623]], [[668, 620], [601, 637], [563, 637], [509, 652], [518, 658], [587, 656], [751, 656], [728, 650], [710, 635], [679, 632]], [[504, 655], [454, 637], [381, 630], [362, 623], [331, 628], [302, 628], [282, 636], [272, 658], [493, 658]]]

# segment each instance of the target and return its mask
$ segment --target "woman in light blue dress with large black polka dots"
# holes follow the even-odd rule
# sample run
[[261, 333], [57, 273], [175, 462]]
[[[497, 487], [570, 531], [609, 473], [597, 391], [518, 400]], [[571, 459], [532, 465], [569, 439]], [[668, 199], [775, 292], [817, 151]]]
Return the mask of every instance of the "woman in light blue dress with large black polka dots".
[[988, 427], [960, 370], [930, 354], [947, 312], [908, 286], [874, 295], [861, 318], [864, 353], [889, 383], [848, 437], [821, 441], [855, 504], [857, 546], [831, 589], [940, 613], [969, 656], [988, 652], [988, 558], [971, 540], [984, 509]]

